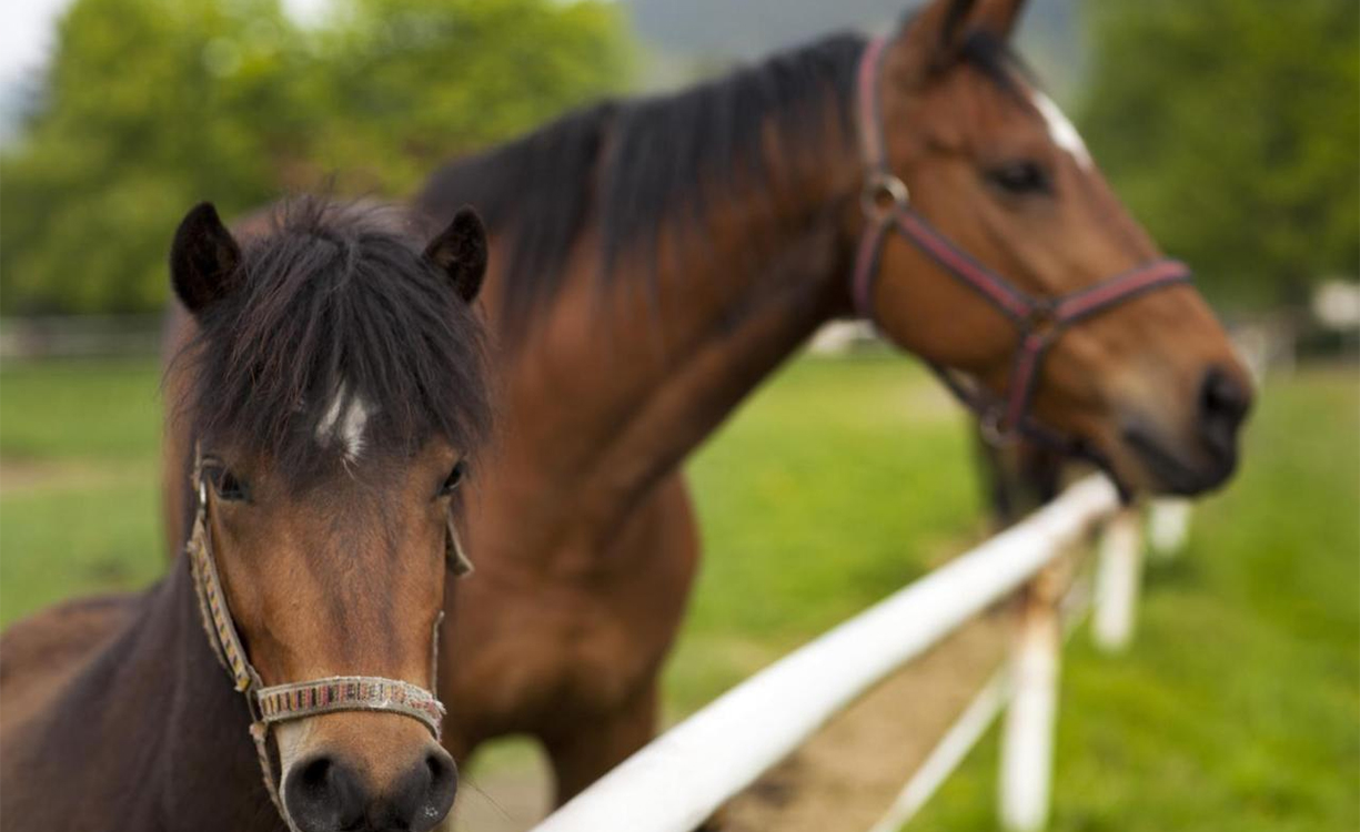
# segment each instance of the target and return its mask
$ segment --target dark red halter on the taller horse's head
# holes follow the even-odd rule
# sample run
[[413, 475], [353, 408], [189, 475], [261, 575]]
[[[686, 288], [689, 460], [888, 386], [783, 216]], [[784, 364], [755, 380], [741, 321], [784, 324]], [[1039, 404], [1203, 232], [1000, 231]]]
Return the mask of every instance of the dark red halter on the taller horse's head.
[[962, 372], [926, 362], [945, 386], [978, 415], [983, 436], [994, 445], [1024, 436], [1068, 453], [1078, 453], [1077, 442], [1038, 423], [1030, 413], [1049, 348], [1078, 321], [1146, 292], [1189, 283], [1190, 269], [1176, 260], [1155, 260], [1068, 295], [1039, 298], [970, 257], [911, 208], [906, 184], [888, 166], [883, 111], [879, 106], [887, 45], [887, 38], [870, 41], [857, 72], [860, 144], [866, 166], [861, 208], [868, 226], [855, 252], [850, 285], [855, 313], [874, 321], [873, 291], [888, 232], [906, 238], [955, 280], [1001, 311], [1016, 329], [1009, 379], [1000, 397]]

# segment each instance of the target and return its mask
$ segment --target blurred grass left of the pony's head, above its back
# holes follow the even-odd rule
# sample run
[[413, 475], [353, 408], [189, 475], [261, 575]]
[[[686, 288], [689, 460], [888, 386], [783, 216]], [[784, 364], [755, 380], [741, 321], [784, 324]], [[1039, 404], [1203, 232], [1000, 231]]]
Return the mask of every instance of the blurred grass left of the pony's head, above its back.
[[160, 574], [154, 360], [0, 368], [0, 623]]

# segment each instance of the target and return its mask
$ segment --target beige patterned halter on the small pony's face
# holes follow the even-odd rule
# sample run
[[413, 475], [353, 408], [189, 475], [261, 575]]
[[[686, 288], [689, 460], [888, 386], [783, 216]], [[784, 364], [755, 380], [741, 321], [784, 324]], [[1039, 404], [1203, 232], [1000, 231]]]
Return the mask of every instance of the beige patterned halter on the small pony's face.
[[[269, 685], [250, 663], [227, 595], [222, 589], [222, 578], [212, 555], [212, 536], [208, 525], [208, 489], [203, 479], [203, 458], [194, 450], [193, 487], [199, 506], [194, 513], [193, 534], [185, 551], [193, 572], [193, 586], [199, 595], [199, 612], [208, 643], [238, 692], [246, 699], [250, 711], [250, 740], [256, 746], [256, 757], [264, 774], [264, 786], [269, 793], [283, 821], [291, 832], [298, 827], [279, 795], [280, 783], [275, 782], [273, 763], [269, 755], [269, 729], [280, 722], [306, 719], [336, 711], [385, 711], [409, 716], [426, 726], [434, 738], [439, 740], [439, 729], [445, 708], [438, 697], [419, 685], [381, 676], [330, 676], [314, 681]], [[449, 519], [445, 536], [445, 559], [456, 575], [472, 571], [472, 563], [462, 552], [457, 529]], [[435, 619], [432, 643], [430, 647], [430, 688], [435, 688], [435, 673], [439, 662], [439, 624], [443, 612]]]

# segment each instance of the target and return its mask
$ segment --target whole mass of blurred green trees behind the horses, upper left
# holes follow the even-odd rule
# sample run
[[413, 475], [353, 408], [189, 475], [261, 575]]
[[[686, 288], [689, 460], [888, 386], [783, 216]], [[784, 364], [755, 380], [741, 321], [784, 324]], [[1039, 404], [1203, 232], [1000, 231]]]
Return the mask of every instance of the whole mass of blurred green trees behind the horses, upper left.
[[601, 92], [630, 58], [598, 0], [79, 0], [0, 156], [0, 310], [154, 310], [175, 223], [288, 190], [403, 196], [445, 158]]

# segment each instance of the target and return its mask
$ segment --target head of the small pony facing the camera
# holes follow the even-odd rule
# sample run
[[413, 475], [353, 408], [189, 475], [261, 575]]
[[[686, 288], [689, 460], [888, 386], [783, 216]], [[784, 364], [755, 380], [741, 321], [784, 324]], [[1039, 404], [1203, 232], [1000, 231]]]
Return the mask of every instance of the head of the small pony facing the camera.
[[[248, 695], [329, 682], [277, 700], [311, 707], [271, 723], [291, 822], [430, 829], [457, 788], [426, 691], [457, 488], [488, 421], [471, 307], [483, 228], [462, 212], [426, 243], [403, 215], [321, 201], [260, 226], [238, 243], [200, 205], [171, 252], [200, 330], [182, 359], [194, 375], [182, 413], [200, 454], [196, 540], [253, 668], [235, 672], [256, 677]], [[388, 687], [335, 678], [360, 676]], [[384, 696], [423, 711], [360, 710]], [[318, 712], [326, 704], [350, 707]]]

